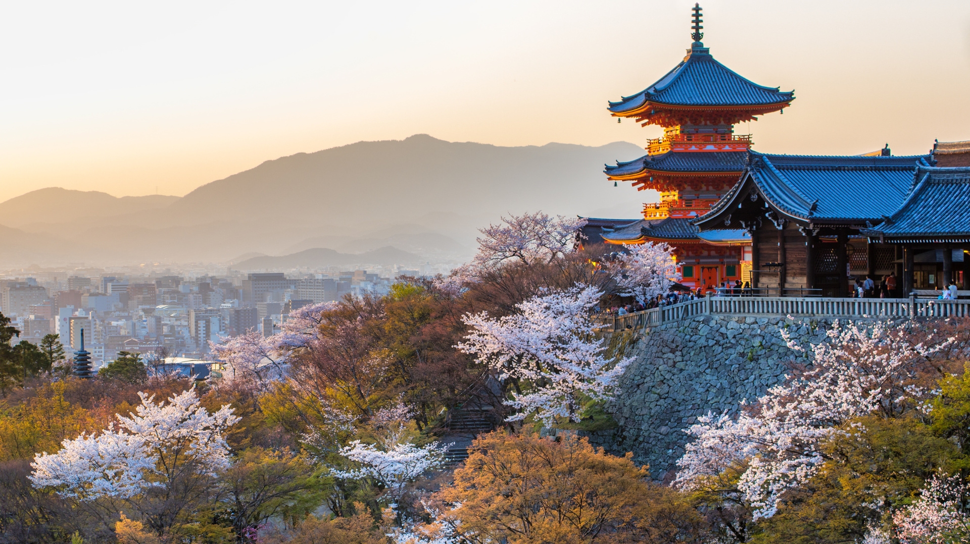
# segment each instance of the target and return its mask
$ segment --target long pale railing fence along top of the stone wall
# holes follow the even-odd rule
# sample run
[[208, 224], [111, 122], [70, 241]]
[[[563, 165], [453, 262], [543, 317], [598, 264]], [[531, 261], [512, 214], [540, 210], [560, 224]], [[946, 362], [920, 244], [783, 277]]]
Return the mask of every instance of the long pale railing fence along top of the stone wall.
[[595, 318], [606, 330], [624, 331], [655, 327], [697, 315], [785, 316], [827, 318], [913, 319], [917, 317], [970, 317], [970, 301], [932, 299], [826, 299], [818, 297], [712, 297], [687, 301], [626, 315]]

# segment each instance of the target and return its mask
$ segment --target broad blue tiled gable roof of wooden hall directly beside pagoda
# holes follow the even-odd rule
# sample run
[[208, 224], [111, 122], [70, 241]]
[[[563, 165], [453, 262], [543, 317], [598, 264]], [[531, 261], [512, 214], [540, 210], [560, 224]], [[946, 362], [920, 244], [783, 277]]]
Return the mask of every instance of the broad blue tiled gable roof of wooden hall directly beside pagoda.
[[[702, 225], [726, 211], [749, 179], [774, 208], [806, 221], [879, 221], [913, 189], [919, 156], [768, 155], [751, 152], [751, 165], [727, 195], [695, 220]], [[745, 195], [751, 191], [744, 191]]]

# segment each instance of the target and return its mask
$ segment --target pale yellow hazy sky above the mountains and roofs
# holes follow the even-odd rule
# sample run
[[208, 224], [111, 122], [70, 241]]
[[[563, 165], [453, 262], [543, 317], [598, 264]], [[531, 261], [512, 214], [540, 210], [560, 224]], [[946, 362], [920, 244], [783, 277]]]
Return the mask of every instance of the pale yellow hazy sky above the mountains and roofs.
[[[693, 5], [5, 2], [0, 201], [47, 186], [182, 195], [281, 155], [416, 133], [642, 145], [660, 129], [618, 124], [606, 101], [677, 64]], [[751, 123], [761, 151], [970, 140], [966, 0], [702, 7], [718, 60], [795, 90], [784, 115]]]

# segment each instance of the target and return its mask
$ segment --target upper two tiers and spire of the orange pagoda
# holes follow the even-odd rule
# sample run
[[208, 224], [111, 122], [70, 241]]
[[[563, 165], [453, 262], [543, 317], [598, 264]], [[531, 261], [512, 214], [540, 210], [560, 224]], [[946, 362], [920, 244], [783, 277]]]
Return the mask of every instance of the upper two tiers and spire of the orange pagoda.
[[715, 60], [700, 42], [701, 8], [692, 10], [694, 43], [684, 60], [646, 89], [609, 103], [615, 117], [663, 127], [663, 138], [647, 142], [647, 155], [605, 171], [610, 180], [661, 192], [660, 203], [644, 206], [645, 219], [702, 215], [744, 171], [751, 137], [735, 135], [734, 125], [794, 100], [794, 91], [759, 85]]

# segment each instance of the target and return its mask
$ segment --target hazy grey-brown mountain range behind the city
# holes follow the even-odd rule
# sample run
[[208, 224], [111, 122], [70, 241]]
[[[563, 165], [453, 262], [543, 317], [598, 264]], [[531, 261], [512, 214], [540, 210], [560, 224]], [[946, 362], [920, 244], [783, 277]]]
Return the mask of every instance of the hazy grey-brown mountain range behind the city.
[[[629, 186], [618, 192], [601, 165], [642, 153], [625, 142], [510, 147], [415, 135], [280, 157], [180, 198], [49, 187], [0, 203], [0, 269], [224, 264], [245, 253], [291, 258], [324, 248], [333, 255], [313, 259], [391, 247], [461, 261], [477, 229], [502, 214], [635, 217], [640, 199], [631, 202]], [[234, 268], [263, 263], [249, 261]]]

